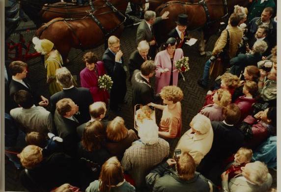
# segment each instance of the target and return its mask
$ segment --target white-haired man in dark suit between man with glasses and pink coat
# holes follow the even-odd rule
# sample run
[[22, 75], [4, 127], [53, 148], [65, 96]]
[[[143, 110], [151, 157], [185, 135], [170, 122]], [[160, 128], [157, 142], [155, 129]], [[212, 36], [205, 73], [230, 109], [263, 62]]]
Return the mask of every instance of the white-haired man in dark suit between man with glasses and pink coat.
[[132, 79], [132, 75], [136, 69], [140, 70], [141, 64], [149, 60], [149, 56], [147, 55], [149, 51], [149, 44], [147, 41], [143, 40], [140, 41], [138, 48], [136, 51], [134, 51], [130, 58], [129, 58], [129, 72], [130, 72], [130, 78], [129, 81]]

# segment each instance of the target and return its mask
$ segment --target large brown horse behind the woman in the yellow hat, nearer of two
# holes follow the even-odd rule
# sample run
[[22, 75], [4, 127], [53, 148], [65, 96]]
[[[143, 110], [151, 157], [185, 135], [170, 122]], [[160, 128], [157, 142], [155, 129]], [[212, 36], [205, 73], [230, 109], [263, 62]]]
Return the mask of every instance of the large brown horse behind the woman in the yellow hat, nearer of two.
[[[116, 2], [122, 3], [122, 10], [126, 9], [127, 0], [111, 0], [112, 4]], [[123, 15], [123, 22], [120, 21], [117, 16], [118, 10], [114, 11], [116, 12], [104, 4], [103, 7], [94, 11], [93, 15], [98, 21], [94, 21], [91, 16], [86, 16], [84, 19], [56, 18], [38, 28], [35, 36], [52, 41], [65, 62], [71, 48], [92, 49], [105, 43], [109, 35], [121, 35], [124, 28], [122, 23], [126, 18]], [[98, 22], [100, 25], [97, 24]]]

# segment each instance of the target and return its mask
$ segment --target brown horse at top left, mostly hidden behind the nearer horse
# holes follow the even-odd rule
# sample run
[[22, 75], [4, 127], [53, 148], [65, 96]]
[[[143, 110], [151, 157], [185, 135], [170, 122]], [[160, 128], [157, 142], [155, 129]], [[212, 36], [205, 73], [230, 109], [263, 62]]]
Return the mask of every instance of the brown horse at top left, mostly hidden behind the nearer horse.
[[[136, 2], [135, 0], [135, 3], [138, 4], [139, 6], [143, 5], [143, 2], [139, 2], [139, 1]], [[125, 13], [126, 7], [124, 8], [122, 0], [116, 1], [112, 4], [120, 12]], [[87, 16], [89, 12], [100, 9], [102, 6], [104, 6], [104, 2], [101, 0], [89, 0], [89, 3], [84, 5], [77, 5], [77, 4], [66, 3], [66, 2], [57, 2], [53, 4], [45, 4], [45, 6], [43, 6], [42, 10], [40, 11], [40, 15], [43, 22], [49, 22], [57, 17], [82, 18], [84, 16]]]

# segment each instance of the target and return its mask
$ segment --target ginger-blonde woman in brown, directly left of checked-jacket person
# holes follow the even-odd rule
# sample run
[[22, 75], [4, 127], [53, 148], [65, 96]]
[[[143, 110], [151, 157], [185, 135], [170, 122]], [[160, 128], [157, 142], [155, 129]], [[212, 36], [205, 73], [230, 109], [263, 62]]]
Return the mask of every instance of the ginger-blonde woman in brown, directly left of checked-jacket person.
[[125, 150], [132, 145], [132, 142], [138, 140], [137, 134], [133, 130], [128, 130], [125, 127], [124, 119], [119, 116], [109, 122], [106, 134], [106, 148], [111, 156], [117, 156], [119, 160], [122, 159]]

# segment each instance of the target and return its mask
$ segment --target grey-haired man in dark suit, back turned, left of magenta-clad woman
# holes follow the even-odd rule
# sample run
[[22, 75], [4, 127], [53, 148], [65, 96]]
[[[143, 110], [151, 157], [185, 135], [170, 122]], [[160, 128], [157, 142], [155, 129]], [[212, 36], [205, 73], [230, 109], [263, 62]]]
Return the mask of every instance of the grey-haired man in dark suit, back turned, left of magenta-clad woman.
[[79, 106], [79, 111], [75, 114], [79, 123], [87, 122], [90, 119], [89, 105], [93, 103], [93, 98], [89, 89], [75, 87], [73, 85], [73, 77], [70, 71], [65, 67], [56, 70], [56, 81], [62, 86], [62, 91], [51, 96], [51, 112], [54, 114], [58, 100], [70, 98]]

